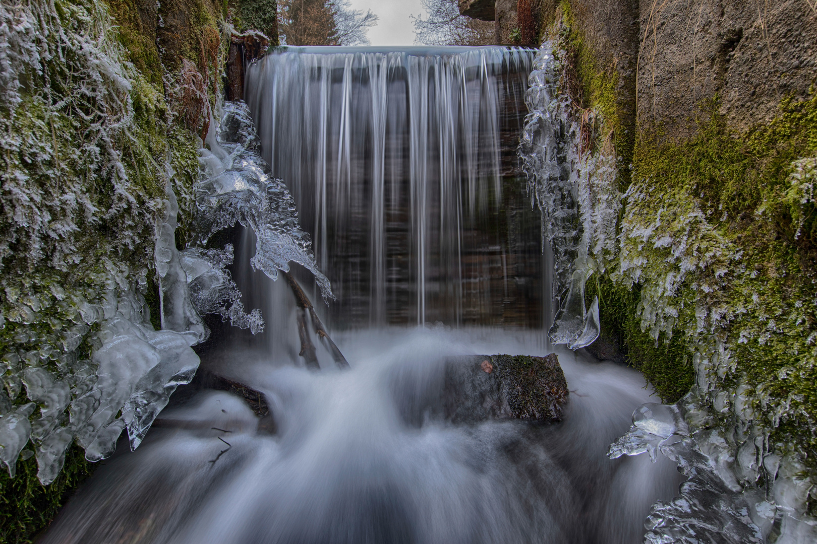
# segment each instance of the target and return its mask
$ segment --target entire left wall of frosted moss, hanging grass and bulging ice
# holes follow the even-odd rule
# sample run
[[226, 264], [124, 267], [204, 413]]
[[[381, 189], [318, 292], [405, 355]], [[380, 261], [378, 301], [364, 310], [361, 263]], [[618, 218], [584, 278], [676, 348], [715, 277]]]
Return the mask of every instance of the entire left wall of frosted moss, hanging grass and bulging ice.
[[[49, 484], [74, 441], [98, 460], [126, 428], [136, 447], [192, 378], [203, 313], [263, 326], [236, 303], [231, 248], [193, 233], [224, 17], [242, 20], [177, 4], [148, 6], [153, 29], [132, 20], [140, 2], [0, 3], [0, 461], [12, 476], [35, 457]], [[180, 11], [194, 16], [182, 24]]]

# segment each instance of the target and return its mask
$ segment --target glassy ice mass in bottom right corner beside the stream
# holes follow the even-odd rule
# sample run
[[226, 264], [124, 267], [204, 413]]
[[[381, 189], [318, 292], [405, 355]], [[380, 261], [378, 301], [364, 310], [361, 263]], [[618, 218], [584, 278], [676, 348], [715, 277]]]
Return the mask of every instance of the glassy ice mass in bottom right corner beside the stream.
[[[687, 480], [669, 502], [657, 502], [647, 518], [646, 544], [744, 544], [817, 542], [817, 520], [806, 515], [811, 489], [805, 467], [792, 456], [757, 458], [755, 446], [720, 428], [707, 428], [711, 416], [696, 393], [677, 405], [642, 405], [632, 414], [632, 427], [609, 448], [608, 457], [648, 452], [678, 463]], [[744, 491], [739, 480], [774, 481], [769, 496], [759, 489]]]

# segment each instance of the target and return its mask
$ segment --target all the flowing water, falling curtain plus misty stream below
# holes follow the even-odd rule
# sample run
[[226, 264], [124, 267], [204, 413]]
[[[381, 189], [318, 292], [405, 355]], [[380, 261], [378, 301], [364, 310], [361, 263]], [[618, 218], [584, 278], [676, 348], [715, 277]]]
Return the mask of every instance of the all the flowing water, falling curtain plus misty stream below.
[[641, 374], [558, 351], [561, 422], [435, 415], [450, 357], [553, 351], [552, 264], [515, 151], [533, 56], [289, 48], [253, 64], [262, 154], [332, 282], [337, 302], [312, 298], [351, 368], [320, 351], [320, 372], [302, 367], [294, 297], [249, 266], [240, 231], [233, 277], [266, 329], [214, 334], [199, 374], [270, 414], [181, 387], [41, 542], [641, 542], [681, 481], [666, 458], [605, 456], [654, 400]]

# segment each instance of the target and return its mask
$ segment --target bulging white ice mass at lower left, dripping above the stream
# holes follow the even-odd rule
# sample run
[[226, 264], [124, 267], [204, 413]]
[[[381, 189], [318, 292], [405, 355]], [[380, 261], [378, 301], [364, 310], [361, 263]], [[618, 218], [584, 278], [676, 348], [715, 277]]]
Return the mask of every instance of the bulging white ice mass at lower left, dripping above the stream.
[[[9, 396], [0, 395], [0, 460], [12, 476], [20, 453], [36, 454], [38, 477], [49, 484], [72, 441], [97, 461], [114, 452], [126, 427], [135, 448], [172, 391], [199, 366], [185, 336], [154, 330], [145, 299], [122, 273], [112, 274], [109, 289], [94, 299], [74, 293], [56, 301], [75, 325], [50, 350], [3, 357]], [[87, 335], [92, 325], [98, 329]], [[77, 356], [83, 339], [95, 347], [90, 359]], [[31, 402], [14, 406], [20, 387]], [[24, 450], [29, 440], [33, 452]]]

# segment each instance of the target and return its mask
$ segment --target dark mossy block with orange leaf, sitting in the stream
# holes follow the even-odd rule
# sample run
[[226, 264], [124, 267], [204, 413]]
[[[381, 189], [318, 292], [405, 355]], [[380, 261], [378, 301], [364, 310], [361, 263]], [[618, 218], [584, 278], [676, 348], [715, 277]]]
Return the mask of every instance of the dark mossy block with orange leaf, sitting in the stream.
[[454, 423], [510, 418], [556, 422], [567, 398], [555, 353], [457, 357], [445, 365], [444, 414]]

